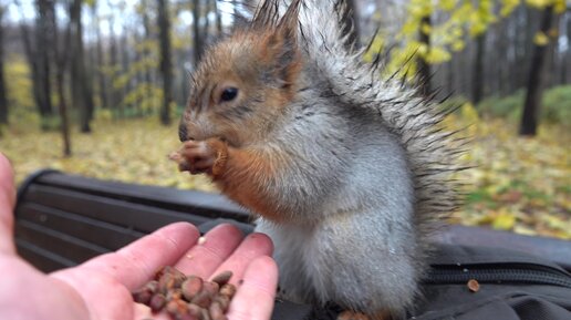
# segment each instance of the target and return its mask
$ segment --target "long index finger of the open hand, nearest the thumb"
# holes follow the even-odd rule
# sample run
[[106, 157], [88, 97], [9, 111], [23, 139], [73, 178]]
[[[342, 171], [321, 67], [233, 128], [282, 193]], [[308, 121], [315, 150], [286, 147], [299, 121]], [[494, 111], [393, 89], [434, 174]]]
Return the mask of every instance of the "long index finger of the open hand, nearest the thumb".
[[135, 290], [153, 278], [159, 268], [179, 260], [198, 237], [195, 226], [188, 223], [172, 224], [116, 252], [89, 260], [81, 267], [103, 271], [127, 289]]

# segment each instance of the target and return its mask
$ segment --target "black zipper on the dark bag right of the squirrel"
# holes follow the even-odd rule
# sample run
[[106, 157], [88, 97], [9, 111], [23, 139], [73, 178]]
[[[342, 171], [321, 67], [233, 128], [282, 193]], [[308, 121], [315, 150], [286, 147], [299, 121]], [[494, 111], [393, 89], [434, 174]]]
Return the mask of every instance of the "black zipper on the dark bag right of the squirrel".
[[571, 275], [534, 264], [433, 265], [425, 283], [481, 283], [547, 285], [571, 288]]

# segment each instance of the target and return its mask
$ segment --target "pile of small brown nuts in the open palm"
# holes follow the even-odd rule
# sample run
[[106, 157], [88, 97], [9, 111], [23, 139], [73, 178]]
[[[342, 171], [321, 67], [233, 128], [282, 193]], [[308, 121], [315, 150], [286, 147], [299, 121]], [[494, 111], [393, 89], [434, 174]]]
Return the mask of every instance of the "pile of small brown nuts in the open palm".
[[231, 271], [224, 271], [206, 281], [164, 267], [154, 280], [133, 292], [133, 299], [148, 306], [153, 313], [166, 311], [174, 320], [226, 320], [236, 293], [236, 287], [228, 283], [231, 277]]

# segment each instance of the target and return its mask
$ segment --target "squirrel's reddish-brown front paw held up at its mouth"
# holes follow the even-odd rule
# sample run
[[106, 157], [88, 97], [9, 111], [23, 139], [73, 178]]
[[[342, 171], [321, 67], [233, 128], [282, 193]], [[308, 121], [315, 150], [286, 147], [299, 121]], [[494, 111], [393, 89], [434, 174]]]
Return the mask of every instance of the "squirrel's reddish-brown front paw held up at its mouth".
[[179, 171], [187, 171], [190, 174], [207, 173], [216, 177], [225, 168], [228, 147], [219, 138], [187, 141], [169, 157], [178, 163]]

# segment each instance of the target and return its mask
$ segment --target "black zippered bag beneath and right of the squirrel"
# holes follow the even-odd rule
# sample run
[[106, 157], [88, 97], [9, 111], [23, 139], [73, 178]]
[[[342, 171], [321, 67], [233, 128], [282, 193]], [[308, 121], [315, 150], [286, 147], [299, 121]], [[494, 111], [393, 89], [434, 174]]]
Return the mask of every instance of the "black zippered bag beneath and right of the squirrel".
[[[470, 286], [468, 286], [468, 282]], [[571, 273], [525, 252], [439, 245], [415, 320], [570, 320]], [[334, 320], [334, 306], [278, 301], [273, 320]]]

